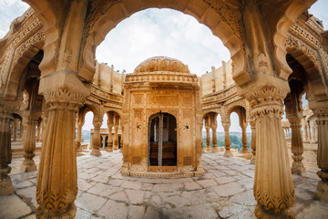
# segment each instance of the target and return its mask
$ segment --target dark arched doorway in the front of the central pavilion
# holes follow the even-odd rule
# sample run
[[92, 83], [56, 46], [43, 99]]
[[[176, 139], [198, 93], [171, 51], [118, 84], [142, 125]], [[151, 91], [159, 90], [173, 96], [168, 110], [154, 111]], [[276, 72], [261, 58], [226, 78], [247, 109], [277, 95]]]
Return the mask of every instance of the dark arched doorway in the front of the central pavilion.
[[149, 118], [149, 166], [177, 166], [177, 120], [159, 112]]

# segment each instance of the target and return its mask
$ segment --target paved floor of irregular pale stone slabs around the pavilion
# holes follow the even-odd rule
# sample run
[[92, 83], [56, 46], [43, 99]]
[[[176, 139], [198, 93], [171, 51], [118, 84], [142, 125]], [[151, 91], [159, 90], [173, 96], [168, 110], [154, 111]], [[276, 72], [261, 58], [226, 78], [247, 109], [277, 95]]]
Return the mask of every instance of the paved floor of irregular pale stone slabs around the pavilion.
[[[36, 164], [39, 156], [35, 158]], [[0, 218], [36, 218], [36, 172], [19, 170], [14, 159], [15, 193], [0, 197]], [[220, 153], [203, 153], [204, 176], [182, 179], [147, 179], [122, 176], [122, 154], [102, 151], [77, 157], [76, 218], [254, 218], [254, 165]], [[293, 176], [296, 218], [328, 218], [328, 203], [313, 200], [319, 178], [309, 168]]]

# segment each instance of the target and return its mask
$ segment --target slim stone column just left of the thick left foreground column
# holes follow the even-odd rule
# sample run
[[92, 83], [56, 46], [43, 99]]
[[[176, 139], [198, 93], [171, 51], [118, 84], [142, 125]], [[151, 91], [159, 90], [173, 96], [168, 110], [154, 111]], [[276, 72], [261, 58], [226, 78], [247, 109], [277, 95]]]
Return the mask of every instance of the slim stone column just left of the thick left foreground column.
[[[35, 112], [28, 112], [33, 115]], [[24, 162], [21, 165], [21, 169], [25, 172], [36, 171], [36, 162], [33, 158], [36, 156], [36, 124], [37, 118], [34, 116], [26, 116], [24, 118], [25, 122], [24, 135], [23, 135], [23, 147], [24, 147]]]

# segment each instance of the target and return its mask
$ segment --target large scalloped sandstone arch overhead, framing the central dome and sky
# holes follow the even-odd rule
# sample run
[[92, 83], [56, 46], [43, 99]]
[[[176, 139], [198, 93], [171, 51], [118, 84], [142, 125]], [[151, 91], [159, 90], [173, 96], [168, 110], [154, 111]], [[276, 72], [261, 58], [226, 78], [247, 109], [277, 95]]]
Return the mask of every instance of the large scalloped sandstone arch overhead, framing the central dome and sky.
[[[94, 8], [95, 7], [95, 8]], [[97, 8], [96, 8], [97, 7]], [[226, 1], [200, 1], [200, 0], [122, 0], [118, 3], [106, 1], [103, 4], [91, 5], [87, 17], [85, 38], [81, 45], [78, 75], [91, 81], [96, 66], [96, 48], [104, 40], [108, 32], [128, 16], [138, 11], [157, 7], [178, 10], [184, 14], [194, 16], [201, 24], [208, 26], [213, 35], [218, 36], [225, 47], [231, 52], [234, 63], [233, 78], [241, 83], [251, 80], [246, 66], [246, 55], [241, 30], [241, 4], [227, 3]]]

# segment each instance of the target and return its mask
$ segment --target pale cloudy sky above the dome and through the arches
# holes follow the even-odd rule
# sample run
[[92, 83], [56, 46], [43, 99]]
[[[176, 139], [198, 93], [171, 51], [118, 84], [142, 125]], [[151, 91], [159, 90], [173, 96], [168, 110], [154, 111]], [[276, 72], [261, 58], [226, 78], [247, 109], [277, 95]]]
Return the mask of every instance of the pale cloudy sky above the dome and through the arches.
[[[4, 37], [11, 22], [21, 16], [28, 5], [19, 0], [0, 0], [0, 38]], [[319, 0], [310, 13], [328, 26], [328, 1]], [[143, 60], [154, 56], [174, 57], [187, 64], [190, 72], [202, 75], [211, 67], [220, 67], [222, 60], [230, 59], [229, 50], [207, 26], [194, 17], [170, 9], [148, 9], [123, 20], [108, 33], [97, 47], [98, 62], [113, 65], [116, 70], [133, 72]], [[103, 126], [106, 127], [104, 118]], [[220, 124], [220, 120], [219, 120]], [[238, 116], [231, 115], [231, 131], [241, 131]], [[87, 114], [83, 129], [92, 128], [92, 113]], [[250, 130], [248, 128], [248, 130]], [[223, 131], [218, 127], [218, 131]]]

